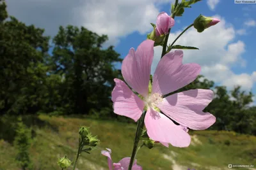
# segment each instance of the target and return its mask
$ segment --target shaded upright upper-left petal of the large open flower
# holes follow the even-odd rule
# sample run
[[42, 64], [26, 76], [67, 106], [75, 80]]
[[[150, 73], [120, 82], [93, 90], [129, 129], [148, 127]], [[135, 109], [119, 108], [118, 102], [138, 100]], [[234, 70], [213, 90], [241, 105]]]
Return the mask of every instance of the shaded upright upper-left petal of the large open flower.
[[150, 79], [151, 64], [154, 57], [154, 41], [143, 41], [136, 52], [131, 48], [122, 63], [122, 75], [127, 84], [146, 97]]

